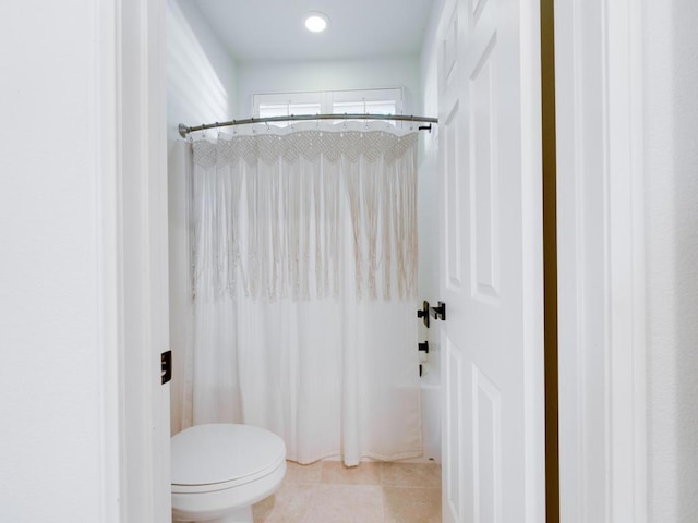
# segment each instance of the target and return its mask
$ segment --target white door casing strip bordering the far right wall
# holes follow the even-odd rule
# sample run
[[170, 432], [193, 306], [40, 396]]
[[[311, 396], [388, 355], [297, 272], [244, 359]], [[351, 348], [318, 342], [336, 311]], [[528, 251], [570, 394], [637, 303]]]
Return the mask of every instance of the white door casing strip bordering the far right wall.
[[609, 107], [611, 518], [647, 521], [641, 3], [605, 0]]

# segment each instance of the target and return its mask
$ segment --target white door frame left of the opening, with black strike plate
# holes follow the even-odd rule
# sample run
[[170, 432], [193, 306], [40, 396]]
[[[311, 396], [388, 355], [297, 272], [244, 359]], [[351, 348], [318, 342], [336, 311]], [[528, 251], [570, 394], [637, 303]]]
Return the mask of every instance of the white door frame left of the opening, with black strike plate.
[[170, 522], [165, 0], [93, 11], [103, 518]]

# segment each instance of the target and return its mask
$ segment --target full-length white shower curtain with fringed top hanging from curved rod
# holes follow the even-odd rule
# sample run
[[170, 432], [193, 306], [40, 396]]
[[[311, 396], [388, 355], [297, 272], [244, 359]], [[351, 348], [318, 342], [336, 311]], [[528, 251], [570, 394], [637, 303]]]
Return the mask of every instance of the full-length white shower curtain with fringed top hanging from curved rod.
[[288, 458], [421, 454], [416, 133], [311, 124], [192, 144], [182, 425]]

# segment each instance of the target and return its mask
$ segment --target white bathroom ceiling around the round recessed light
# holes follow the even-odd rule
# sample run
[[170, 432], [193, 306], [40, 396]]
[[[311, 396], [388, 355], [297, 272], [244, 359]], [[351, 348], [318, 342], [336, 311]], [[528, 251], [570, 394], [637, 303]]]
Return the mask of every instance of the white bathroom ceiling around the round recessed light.
[[[190, 0], [240, 62], [365, 59], [419, 53], [437, 0]], [[329, 16], [324, 33], [304, 14]]]

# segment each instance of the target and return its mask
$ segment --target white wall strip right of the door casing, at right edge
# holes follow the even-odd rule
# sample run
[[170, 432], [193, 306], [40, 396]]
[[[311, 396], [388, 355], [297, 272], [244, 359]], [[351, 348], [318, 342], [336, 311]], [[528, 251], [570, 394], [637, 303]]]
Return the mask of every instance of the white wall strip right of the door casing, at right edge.
[[645, 2], [648, 520], [698, 521], [698, 3]]

